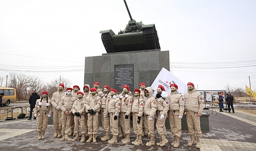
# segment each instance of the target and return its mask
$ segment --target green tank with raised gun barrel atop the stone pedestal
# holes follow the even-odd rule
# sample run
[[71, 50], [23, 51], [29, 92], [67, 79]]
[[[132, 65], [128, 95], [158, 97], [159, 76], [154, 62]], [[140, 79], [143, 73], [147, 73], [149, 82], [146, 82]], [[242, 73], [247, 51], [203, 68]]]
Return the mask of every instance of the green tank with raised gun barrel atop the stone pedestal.
[[100, 31], [107, 53], [160, 49], [155, 24], [144, 25], [142, 22], [136, 22], [130, 14], [126, 1], [123, 0], [123, 2], [130, 16], [126, 28], [123, 31], [120, 30], [118, 35], [111, 29]]

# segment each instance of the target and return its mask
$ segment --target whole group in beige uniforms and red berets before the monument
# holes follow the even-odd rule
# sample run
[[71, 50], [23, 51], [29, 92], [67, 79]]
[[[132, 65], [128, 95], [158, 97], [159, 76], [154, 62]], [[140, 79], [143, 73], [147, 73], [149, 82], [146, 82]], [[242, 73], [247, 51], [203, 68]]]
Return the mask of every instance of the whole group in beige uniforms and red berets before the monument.
[[[156, 145], [164, 146], [168, 143], [166, 139], [165, 120], [169, 117], [171, 133], [174, 141], [171, 145], [177, 148], [181, 135], [181, 118], [186, 112], [186, 122], [188, 125], [191, 141], [187, 144], [200, 148], [200, 116], [203, 111], [203, 98], [196, 92], [194, 84], [187, 84], [188, 91], [184, 96], [177, 92], [178, 86], [171, 84], [171, 93], [165, 91], [162, 85], [158, 85], [157, 91], [153, 93], [152, 87], [146, 87], [140, 83], [139, 89], [134, 89], [134, 96], [128, 85], [123, 85], [121, 94], [117, 90], [105, 85], [102, 91], [99, 83], [95, 82], [94, 87], [84, 85], [83, 92], [79, 86], [66, 88], [60, 83], [58, 91], [50, 100], [47, 91], [41, 93], [41, 99], [36, 101], [35, 114], [37, 117], [38, 139], [45, 138], [48, 118], [54, 115], [54, 138], [61, 138], [60, 141], [97, 142], [99, 120], [105, 131], [101, 141], [109, 144], [117, 143], [119, 133], [118, 122], [120, 120], [121, 133], [119, 138], [123, 144], [130, 143], [130, 120], [133, 121], [133, 131], [136, 134], [134, 145], [142, 144], [142, 137], [145, 131], [148, 133], [149, 142], [146, 146], [155, 145], [154, 126], [158, 131], [160, 141]], [[100, 118], [101, 116], [101, 118]], [[156, 124], [155, 124], [155, 118]], [[79, 130], [79, 127], [81, 130]], [[195, 127], [195, 130], [194, 130]], [[110, 131], [113, 137], [110, 139]], [[75, 136], [70, 138], [70, 136]]]

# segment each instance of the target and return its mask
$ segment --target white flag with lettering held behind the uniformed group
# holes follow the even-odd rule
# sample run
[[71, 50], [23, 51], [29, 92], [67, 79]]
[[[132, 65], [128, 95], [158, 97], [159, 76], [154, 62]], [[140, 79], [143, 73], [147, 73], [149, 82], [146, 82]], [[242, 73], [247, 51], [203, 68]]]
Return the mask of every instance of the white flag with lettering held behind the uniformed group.
[[184, 94], [187, 92], [187, 85], [165, 68], [161, 69], [151, 87], [157, 91], [158, 85], [163, 85], [165, 91], [171, 93], [170, 85], [173, 83], [178, 85], [177, 91], [184, 97]]

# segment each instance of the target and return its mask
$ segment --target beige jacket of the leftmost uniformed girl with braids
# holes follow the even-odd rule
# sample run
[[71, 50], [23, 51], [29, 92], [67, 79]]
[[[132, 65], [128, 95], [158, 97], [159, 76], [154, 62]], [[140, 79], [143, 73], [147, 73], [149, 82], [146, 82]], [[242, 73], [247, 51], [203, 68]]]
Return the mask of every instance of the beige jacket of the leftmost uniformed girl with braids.
[[48, 103], [50, 104], [49, 107], [46, 106], [46, 98], [43, 98], [42, 100], [42, 105], [41, 107], [38, 105], [38, 103], [41, 101], [41, 99], [38, 99], [35, 103], [35, 109], [34, 109], [34, 113], [37, 114], [38, 112], [40, 113], [52, 113], [52, 104], [51, 104], [51, 100], [48, 99]]

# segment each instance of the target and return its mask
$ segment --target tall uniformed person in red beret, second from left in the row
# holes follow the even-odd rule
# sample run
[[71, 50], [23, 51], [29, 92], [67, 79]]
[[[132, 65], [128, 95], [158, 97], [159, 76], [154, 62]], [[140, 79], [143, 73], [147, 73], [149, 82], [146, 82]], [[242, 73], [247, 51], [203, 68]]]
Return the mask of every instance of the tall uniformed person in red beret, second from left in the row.
[[56, 130], [56, 133], [54, 135], [54, 138], [61, 138], [61, 110], [60, 110], [60, 98], [65, 95], [64, 85], [60, 83], [58, 91], [54, 92], [54, 94], [51, 97], [51, 104], [54, 110], [54, 129]]

